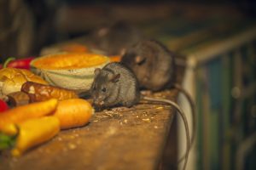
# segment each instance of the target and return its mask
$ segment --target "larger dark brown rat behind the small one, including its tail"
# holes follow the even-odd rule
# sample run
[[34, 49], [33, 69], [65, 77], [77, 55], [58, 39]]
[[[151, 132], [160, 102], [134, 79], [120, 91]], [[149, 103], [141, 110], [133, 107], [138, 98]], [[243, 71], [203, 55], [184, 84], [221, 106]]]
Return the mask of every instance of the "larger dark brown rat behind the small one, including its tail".
[[189, 93], [177, 83], [176, 61], [177, 54], [156, 40], [137, 42], [131, 48], [127, 48], [121, 58], [121, 63], [130, 68], [136, 75], [140, 88], [151, 91], [176, 88], [187, 97], [193, 117], [192, 145], [195, 139], [195, 104]]

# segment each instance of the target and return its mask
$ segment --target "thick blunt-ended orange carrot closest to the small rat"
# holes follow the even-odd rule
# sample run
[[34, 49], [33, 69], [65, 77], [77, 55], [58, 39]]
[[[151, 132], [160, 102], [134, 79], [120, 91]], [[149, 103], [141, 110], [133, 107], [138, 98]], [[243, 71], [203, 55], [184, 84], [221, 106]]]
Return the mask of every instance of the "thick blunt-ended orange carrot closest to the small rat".
[[61, 129], [81, 127], [89, 122], [94, 109], [84, 99], [66, 99], [59, 101], [54, 113], [61, 122]]

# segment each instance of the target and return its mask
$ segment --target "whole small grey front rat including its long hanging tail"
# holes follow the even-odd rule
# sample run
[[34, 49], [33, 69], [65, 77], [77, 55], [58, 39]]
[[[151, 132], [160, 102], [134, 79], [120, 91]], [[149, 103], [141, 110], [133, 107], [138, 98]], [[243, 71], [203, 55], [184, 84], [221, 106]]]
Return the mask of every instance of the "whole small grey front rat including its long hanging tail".
[[113, 62], [105, 65], [102, 69], [97, 68], [90, 88], [90, 96], [96, 108], [113, 107], [116, 105], [131, 107], [139, 103], [140, 99], [174, 106], [183, 118], [186, 131], [187, 150], [185, 156], [183, 156], [185, 158], [184, 168], [186, 167], [190, 142], [189, 126], [185, 114], [176, 103], [169, 99], [154, 99], [140, 94], [137, 77], [125, 65]]

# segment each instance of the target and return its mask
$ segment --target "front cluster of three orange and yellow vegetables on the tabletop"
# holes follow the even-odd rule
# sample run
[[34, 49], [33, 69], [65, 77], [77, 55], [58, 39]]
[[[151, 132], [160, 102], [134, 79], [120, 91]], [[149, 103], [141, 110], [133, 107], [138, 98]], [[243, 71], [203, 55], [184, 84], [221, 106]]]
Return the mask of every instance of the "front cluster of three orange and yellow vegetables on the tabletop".
[[33, 146], [52, 139], [61, 129], [84, 126], [93, 112], [84, 99], [49, 99], [3, 111], [0, 150], [11, 148], [13, 156], [20, 156]]

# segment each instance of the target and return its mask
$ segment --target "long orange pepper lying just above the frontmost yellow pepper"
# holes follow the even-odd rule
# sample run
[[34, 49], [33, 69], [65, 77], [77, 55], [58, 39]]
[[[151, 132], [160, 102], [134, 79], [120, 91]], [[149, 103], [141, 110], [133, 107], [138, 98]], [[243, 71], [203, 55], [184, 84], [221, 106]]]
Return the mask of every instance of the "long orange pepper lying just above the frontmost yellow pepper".
[[31, 118], [49, 115], [55, 111], [57, 104], [57, 99], [49, 99], [47, 101], [21, 105], [14, 109], [4, 111], [0, 114], [0, 131], [3, 133], [16, 133], [14, 128], [8, 127], [9, 124], [24, 122]]

